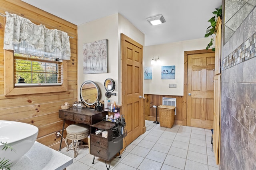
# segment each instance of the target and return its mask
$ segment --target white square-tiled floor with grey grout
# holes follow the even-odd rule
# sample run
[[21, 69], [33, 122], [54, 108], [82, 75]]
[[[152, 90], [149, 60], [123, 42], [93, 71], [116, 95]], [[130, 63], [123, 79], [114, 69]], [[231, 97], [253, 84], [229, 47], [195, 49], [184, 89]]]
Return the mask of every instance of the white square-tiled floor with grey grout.
[[[218, 170], [211, 136], [209, 129], [158, 124], [128, 145], [122, 158], [113, 158], [110, 170]], [[74, 156], [73, 150], [60, 152]], [[96, 157], [92, 164], [92, 159], [88, 148], [80, 148], [66, 170], [106, 170], [104, 160]]]

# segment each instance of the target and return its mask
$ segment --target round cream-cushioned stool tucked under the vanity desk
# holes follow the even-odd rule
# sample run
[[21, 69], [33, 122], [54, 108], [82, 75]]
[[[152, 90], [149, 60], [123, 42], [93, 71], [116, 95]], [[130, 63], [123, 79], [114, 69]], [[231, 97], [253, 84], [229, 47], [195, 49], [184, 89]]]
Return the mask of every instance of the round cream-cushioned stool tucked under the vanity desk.
[[[67, 131], [67, 136], [66, 136], [67, 151], [69, 150], [69, 146], [68, 146], [68, 139], [69, 139], [69, 140], [72, 140], [72, 147], [70, 147], [70, 149], [74, 150], [74, 158], [76, 158], [76, 149], [77, 149], [78, 140], [85, 139], [90, 135], [90, 126], [83, 123], [72, 124], [66, 128], [66, 131]], [[74, 146], [74, 141], [76, 141], [75, 146]], [[88, 145], [81, 145], [81, 146], [88, 147]]]

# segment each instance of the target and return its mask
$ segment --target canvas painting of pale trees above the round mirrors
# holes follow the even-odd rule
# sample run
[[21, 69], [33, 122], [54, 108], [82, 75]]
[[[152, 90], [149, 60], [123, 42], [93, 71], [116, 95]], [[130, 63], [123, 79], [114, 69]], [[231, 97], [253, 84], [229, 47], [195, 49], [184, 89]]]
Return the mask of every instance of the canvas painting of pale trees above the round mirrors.
[[108, 72], [108, 39], [83, 45], [84, 74]]

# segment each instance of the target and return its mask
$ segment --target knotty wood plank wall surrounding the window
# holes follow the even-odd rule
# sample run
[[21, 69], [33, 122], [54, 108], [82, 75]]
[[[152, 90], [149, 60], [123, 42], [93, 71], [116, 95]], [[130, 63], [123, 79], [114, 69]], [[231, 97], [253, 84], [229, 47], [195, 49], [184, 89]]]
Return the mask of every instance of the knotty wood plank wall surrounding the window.
[[[43, 24], [49, 29], [60, 29], [74, 37], [70, 38], [71, 60], [68, 61], [68, 91], [4, 96], [4, 17], [0, 16], [0, 120], [35, 125], [39, 129], [37, 141], [58, 150], [61, 138], [56, 138], [56, 131], [62, 130], [63, 125], [63, 120], [58, 117], [58, 110], [64, 102], [72, 104], [77, 100], [77, 25], [20, 0], [0, 0], [0, 4], [0, 12], [3, 14], [5, 11], [17, 14], [35, 24]], [[65, 127], [71, 123], [73, 122], [66, 121]]]

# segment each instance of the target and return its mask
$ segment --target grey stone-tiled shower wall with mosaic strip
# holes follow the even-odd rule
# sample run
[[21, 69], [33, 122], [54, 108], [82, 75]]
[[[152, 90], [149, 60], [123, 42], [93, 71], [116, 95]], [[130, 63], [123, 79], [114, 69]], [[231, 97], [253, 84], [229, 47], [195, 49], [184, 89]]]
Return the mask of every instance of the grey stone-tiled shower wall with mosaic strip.
[[248, 14], [222, 47], [221, 170], [256, 169], [256, 9]]

